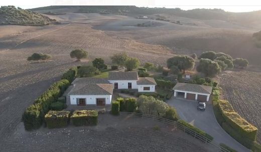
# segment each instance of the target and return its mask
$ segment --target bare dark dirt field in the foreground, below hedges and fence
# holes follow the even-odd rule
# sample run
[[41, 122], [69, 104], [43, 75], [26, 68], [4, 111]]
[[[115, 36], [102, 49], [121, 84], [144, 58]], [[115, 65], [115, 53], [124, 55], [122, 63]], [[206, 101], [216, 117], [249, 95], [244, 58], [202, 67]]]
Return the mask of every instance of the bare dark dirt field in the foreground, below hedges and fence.
[[215, 151], [173, 126], [108, 113], [99, 115], [97, 126], [27, 132], [20, 124], [0, 145], [3, 151]]

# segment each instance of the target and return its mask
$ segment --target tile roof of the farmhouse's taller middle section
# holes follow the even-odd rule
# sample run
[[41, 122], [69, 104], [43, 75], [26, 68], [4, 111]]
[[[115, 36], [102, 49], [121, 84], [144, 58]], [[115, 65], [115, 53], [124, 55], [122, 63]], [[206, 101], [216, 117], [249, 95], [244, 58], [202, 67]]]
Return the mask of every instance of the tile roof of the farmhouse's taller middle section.
[[138, 72], [109, 72], [108, 80], [138, 80]]

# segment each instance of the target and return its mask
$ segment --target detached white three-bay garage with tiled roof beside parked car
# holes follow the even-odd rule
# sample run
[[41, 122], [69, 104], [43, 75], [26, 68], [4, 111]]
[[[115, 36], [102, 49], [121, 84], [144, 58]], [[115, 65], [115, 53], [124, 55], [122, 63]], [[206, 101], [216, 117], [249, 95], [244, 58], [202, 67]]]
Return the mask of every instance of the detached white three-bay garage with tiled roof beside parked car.
[[209, 101], [212, 87], [207, 85], [177, 83], [174, 87], [174, 96], [201, 102]]

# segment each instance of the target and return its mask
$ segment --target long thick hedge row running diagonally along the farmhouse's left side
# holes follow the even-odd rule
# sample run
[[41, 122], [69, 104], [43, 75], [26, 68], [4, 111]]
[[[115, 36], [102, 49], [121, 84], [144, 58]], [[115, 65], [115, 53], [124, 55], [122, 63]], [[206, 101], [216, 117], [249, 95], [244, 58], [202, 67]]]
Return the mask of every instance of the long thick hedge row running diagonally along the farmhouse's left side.
[[26, 108], [22, 116], [26, 130], [39, 128], [43, 124], [44, 115], [49, 111], [51, 103], [64, 93], [69, 84], [70, 82], [66, 79], [55, 82]]

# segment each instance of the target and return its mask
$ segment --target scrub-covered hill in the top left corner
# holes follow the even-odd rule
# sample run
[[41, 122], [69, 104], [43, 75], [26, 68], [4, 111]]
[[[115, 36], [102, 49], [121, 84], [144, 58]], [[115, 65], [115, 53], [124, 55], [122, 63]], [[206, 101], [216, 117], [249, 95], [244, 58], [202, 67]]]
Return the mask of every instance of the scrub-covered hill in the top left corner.
[[15, 6], [0, 7], [0, 24], [47, 25], [56, 21], [45, 15]]

